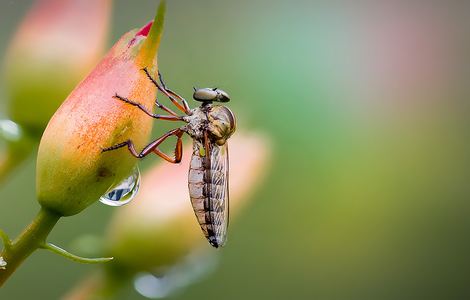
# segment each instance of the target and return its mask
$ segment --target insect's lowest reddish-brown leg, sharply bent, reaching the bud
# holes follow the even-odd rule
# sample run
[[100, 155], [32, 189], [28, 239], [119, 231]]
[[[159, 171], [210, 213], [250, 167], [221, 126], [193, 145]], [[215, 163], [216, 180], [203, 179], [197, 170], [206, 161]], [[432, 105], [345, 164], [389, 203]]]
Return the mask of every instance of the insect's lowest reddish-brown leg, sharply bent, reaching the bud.
[[[145, 146], [145, 148], [140, 153], [137, 152], [137, 150], [135, 149], [134, 143], [131, 140], [127, 140], [123, 143], [119, 143], [119, 144], [111, 146], [109, 148], [105, 148], [102, 151], [107, 152], [107, 151], [112, 151], [112, 150], [120, 149], [120, 148], [123, 148], [123, 147], [127, 146], [127, 148], [129, 149], [129, 152], [136, 158], [144, 158], [147, 155], [149, 155], [150, 153], [155, 153], [158, 156], [160, 156], [161, 158], [163, 158], [164, 160], [166, 160], [170, 163], [176, 164], [176, 163], [179, 163], [181, 161], [182, 157], [183, 157], [183, 141], [182, 141], [183, 133], [184, 133], [184, 131], [181, 130], [180, 128], [173, 129], [173, 130], [165, 133], [163, 136], [156, 139], [155, 141], [151, 142], [147, 146]], [[167, 155], [166, 153], [162, 152], [158, 148], [158, 146], [161, 143], [163, 143], [167, 138], [169, 138], [170, 136], [173, 136], [173, 135], [177, 137], [177, 140], [176, 140], [174, 157], [172, 158], [169, 155]]]

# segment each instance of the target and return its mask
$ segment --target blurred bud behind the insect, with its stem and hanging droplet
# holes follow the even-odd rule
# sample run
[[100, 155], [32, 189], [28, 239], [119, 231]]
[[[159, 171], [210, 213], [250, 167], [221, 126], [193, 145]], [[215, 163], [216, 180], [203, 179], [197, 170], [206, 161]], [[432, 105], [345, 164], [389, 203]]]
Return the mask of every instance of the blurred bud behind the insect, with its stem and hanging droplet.
[[[186, 146], [181, 165], [160, 164], [144, 174], [135, 201], [118, 209], [108, 227], [106, 248], [113, 262], [66, 299], [110, 297], [131, 282], [144, 296], [163, 297], [214, 267], [219, 251], [207, 243], [189, 200], [191, 149]], [[229, 141], [229, 153], [233, 221], [262, 183], [271, 148], [263, 134], [238, 132]]]

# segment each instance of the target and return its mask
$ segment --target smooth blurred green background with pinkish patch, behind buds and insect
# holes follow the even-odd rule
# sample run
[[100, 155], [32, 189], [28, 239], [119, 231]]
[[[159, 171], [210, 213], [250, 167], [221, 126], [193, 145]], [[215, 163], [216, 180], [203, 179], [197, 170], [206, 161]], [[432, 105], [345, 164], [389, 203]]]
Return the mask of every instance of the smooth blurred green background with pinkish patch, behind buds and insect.
[[[0, 56], [31, 2], [1, 1]], [[228, 91], [239, 126], [269, 134], [274, 153], [217, 269], [171, 299], [468, 297], [468, 3], [168, 2], [167, 83], [187, 98]], [[110, 43], [156, 3], [115, 1]], [[38, 210], [34, 168], [1, 187], [12, 236]], [[97, 203], [49, 240], [99, 236], [113, 210]], [[0, 298], [58, 299], [93, 268], [38, 251]]]

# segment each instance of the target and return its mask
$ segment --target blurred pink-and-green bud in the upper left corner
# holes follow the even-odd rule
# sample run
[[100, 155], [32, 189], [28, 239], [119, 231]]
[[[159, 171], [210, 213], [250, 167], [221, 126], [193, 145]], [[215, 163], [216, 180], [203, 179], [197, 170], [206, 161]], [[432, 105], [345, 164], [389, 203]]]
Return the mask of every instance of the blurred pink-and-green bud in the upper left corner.
[[21, 127], [24, 143], [2, 135], [0, 179], [30, 153], [54, 111], [101, 58], [110, 16], [111, 0], [37, 0], [19, 24], [5, 58], [3, 117]]

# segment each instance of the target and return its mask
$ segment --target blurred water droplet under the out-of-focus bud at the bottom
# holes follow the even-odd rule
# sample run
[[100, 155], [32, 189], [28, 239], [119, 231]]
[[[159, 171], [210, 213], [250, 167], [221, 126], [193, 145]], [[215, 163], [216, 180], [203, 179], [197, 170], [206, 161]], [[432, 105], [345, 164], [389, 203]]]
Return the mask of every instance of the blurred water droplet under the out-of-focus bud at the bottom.
[[183, 291], [215, 270], [214, 252], [195, 251], [164, 273], [141, 273], [134, 280], [135, 290], [150, 299], [163, 299]]

